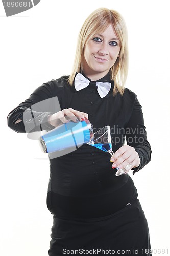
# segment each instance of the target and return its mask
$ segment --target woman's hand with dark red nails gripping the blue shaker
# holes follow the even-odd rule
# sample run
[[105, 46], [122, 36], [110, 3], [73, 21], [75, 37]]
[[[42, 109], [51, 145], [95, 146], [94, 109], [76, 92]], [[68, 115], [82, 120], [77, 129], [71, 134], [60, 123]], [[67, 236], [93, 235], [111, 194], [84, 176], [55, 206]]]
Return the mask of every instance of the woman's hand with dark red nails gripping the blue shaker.
[[84, 119], [84, 117], [88, 118], [88, 114], [84, 112], [80, 112], [78, 110], [74, 110], [72, 108], [63, 109], [57, 113], [48, 116], [48, 122], [57, 127], [62, 123], [67, 123], [70, 120], [74, 121], [75, 123]]

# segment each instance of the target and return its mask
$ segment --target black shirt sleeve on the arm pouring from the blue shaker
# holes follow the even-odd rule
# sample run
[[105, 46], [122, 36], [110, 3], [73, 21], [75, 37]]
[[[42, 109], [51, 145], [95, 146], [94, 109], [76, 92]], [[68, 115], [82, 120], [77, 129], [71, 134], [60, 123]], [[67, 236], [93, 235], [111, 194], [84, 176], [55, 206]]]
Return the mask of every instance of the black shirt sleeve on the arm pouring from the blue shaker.
[[[58, 81], [51, 80], [38, 87], [30, 97], [13, 109], [8, 117], [8, 126], [18, 133], [51, 130], [54, 127], [47, 121], [48, 115], [58, 112], [60, 104]], [[21, 119], [19, 123], [15, 122]]]

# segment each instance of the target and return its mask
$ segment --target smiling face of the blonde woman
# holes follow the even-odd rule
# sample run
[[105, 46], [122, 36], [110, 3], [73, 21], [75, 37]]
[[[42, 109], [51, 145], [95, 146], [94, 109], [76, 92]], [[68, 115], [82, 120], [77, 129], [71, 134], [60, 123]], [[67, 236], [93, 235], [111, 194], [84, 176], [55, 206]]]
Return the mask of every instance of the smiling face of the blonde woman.
[[104, 77], [116, 62], [120, 51], [120, 41], [114, 33], [113, 26], [95, 34], [85, 45], [83, 72], [91, 80]]

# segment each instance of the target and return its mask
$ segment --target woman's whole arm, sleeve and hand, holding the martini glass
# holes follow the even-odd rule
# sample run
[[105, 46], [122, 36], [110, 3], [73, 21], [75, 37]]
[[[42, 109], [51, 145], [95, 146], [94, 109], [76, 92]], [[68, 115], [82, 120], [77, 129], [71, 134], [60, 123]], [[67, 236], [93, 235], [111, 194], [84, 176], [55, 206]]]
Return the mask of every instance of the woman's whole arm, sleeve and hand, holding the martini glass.
[[127, 145], [115, 152], [111, 158], [114, 162], [112, 166], [124, 168], [127, 164], [132, 163], [134, 174], [151, 160], [151, 146], [147, 140], [141, 105], [136, 97], [130, 119], [126, 125], [125, 135]]

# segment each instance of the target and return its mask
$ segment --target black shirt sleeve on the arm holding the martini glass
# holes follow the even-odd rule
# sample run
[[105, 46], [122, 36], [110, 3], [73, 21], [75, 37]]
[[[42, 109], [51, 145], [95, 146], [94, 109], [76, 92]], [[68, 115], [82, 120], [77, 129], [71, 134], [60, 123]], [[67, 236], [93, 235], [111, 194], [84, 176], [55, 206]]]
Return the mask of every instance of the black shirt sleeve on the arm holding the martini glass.
[[151, 146], [147, 140], [142, 108], [135, 97], [134, 108], [125, 130], [127, 144], [139, 154], [140, 165], [133, 168], [133, 174], [141, 170], [151, 160]]

